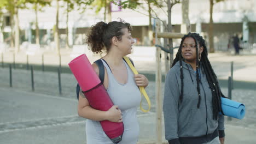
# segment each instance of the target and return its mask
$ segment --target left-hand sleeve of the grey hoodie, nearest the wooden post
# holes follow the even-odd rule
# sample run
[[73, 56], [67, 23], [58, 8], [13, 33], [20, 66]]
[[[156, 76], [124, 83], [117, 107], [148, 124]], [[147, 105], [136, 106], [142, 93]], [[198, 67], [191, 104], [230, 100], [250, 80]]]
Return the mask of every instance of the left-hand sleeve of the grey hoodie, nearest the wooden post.
[[171, 69], [165, 79], [164, 92], [164, 120], [165, 120], [165, 139], [169, 143], [178, 144], [178, 100], [179, 86], [176, 74]]

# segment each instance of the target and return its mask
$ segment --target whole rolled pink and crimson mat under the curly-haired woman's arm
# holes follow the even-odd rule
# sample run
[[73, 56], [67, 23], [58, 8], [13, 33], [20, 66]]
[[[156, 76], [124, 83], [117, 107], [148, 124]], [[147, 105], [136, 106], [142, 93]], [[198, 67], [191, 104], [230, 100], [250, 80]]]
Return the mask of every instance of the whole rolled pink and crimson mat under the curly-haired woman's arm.
[[[107, 111], [113, 106], [112, 100], [102, 85], [100, 79], [92, 68], [91, 63], [85, 54], [74, 58], [69, 64], [69, 68], [77, 79], [86, 99], [91, 107], [101, 111]], [[122, 140], [124, 124], [110, 121], [100, 121], [101, 127], [112, 140], [118, 143]]]

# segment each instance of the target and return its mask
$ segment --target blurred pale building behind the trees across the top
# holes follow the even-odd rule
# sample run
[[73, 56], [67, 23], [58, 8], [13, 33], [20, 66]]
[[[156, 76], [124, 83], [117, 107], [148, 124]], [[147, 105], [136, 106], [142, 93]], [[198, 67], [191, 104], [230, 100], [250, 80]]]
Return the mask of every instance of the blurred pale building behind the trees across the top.
[[[123, 2], [123, 1], [122, 1]], [[83, 45], [86, 40], [86, 32], [98, 21], [117, 21], [121, 19], [131, 23], [133, 26], [132, 36], [136, 39], [137, 45], [150, 46], [154, 38], [149, 29], [154, 27], [154, 19], [149, 20], [148, 6], [146, 1], [141, 1], [143, 6], [136, 9], [124, 9], [115, 4], [110, 5], [110, 15], [104, 15], [105, 10], [97, 11], [97, 6], [74, 5], [74, 9], [68, 13], [65, 1], [59, 1], [59, 38], [60, 47], [66, 47], [66, 28], [68, 27], [68, 44]], [[27, 3], [27, 9], [19, 9], [20, 44], [36, 43], [36, 13], [33, 4]], [[256, 43], [256, 1], [255, 0], [224, 0], [214, 4], [213, 7], [213, 37], [215, 50], [227, 50], [234, 34], [243, 43]], [[80, 9], [80, 10], [79, 10]], [[162, 3], [161, 8], [155, 7], [153, 17], [159, 17], [162, 21], [167, 20], [167, 5]], [[191, 32], [200, 33], [208, 42], [208, 29], [210, 22], [210, 1], [189, 0], [189, 21]], [[0, 43], [10, 47], [11, 15], [7, 10], [2, 9], [2, 34]], [[172, 8], [173, 32], [181, 32], [182, 27], [182, 4], [173, 5]], [[38, 11], [39, 44], [54, 49], [54, 26], [56, 25], [56, 1], [50, 1], [50, 5]], [[106, 19], [107, 17], [107, 19]], [[68, 20], [68, 21], [67, 21]], [[150, 21], [152, 26], [150, 25]], [[2, 35], [2, 36], [1, 36]], [[178, 41], [174, 41], [174, 46]], [[25, 44], [24, 44], [25, 45]]]

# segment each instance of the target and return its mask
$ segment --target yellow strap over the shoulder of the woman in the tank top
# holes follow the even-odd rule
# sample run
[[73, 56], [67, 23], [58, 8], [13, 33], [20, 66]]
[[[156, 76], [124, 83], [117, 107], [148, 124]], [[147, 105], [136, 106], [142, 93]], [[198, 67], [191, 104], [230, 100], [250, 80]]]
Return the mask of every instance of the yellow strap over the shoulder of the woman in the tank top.
[[[133, 65], [132, 65], [132, 63], [131, 63], [131, 61], [130, 61], [130, 59], [129, 59], [128, 57], [124, 57], [124, 59], [125, 59], [126, 63], [129, 65], [129, 67], [131, 68], [133, 74], [137, 75], [137, 74], [138, 74], [138, 71], [135, 69], [135, 67], [133, 67]], [[145, 99], [146, 99], [147, 102], [148, 102], [148, 110], [144, 110], [143, 107], [142, 107], [142, 100], [141, 100], [141, 110], [142, 110], [143, 112], [148, 112], [148, 111], [150, 110], [150, 107], [151, 107], [151, 102], [150, 102], [150, 100], [149, 100], [149, 98], [148, 98], [148, 94], [147, 94], [147, 92], [145, 91], [145, 88], [144, 88], [144, 87], [139, 87], [139, 91], [141, 91], [141, 96], [142, 96], [142, 94], [143, 94], [144, 97], [145, 97]]]

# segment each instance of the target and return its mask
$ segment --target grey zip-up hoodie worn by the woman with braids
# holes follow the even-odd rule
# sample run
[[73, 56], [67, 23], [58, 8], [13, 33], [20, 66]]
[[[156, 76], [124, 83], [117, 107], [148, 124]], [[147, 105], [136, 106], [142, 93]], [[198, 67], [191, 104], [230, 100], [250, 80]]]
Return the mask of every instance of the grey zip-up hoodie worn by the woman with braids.
[[[164, 118], [165, 139], [172, 143], [204, 143], [218, 136], [218, 130], [224, 130], [224, 116], [218, 121], [213, 119], [212, 92], [205, 73], [200, 69], [201, 103], [197, 93], [196, 73], [190, 64], [182, 61], [184, 92], [183, 101], [179, 103], [181, 93], [180, 64], [177, 62], [168, 71], [165, 80]], [[194, 142], [193, 142], [193, 139]]]

